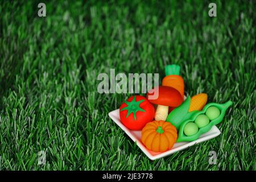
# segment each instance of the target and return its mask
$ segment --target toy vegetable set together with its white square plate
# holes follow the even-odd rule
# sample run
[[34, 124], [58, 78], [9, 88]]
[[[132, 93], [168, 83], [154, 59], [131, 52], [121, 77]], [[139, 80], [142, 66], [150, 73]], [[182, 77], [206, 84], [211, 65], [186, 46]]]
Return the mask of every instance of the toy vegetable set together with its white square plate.
[[[152, 160], [217, 137], [220, 123], [232, 101], [208, 103], [200, 93], [184, 100], [184, 80], [179, 65], [167, 65], [162, 85], [146, 97], [131, 96], [109, 113]], [[149, 97], [158, 89], [158, 98]], [[156, 109], [155, 109], [156, 108]], [[119, 115], [118, 115], [119, 114]]]

